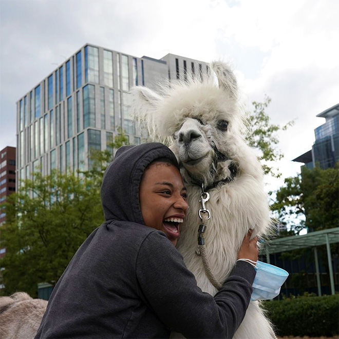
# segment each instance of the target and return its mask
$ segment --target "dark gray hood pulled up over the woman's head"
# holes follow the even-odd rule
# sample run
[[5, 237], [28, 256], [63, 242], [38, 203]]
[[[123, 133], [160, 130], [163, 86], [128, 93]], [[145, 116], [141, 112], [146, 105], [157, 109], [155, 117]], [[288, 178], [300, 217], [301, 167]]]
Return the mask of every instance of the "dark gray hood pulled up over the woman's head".
[[145, 168], [158, 158], [168, 158], [179, 169], [174, 153], [160, 143], [118, 149], [105, 170], [101, 184], [101, 204], [105, 221], [119, 220], [144, 224], [139, 204], [139, 184]]

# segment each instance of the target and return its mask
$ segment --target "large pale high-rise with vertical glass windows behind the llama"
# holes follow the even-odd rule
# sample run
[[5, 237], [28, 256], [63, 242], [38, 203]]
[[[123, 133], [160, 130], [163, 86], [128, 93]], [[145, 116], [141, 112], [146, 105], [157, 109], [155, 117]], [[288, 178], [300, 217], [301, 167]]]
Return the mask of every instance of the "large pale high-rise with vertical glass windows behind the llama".
[[167, 54], [141, 58], [86, 44], [17, 101], [17, 178], [40, 168], [88, 169], [90, 149], [104, 150], [125, 131], [140, 144], [142, 131], [130, 117], [128, 91], [209, 72], [206, 63]]

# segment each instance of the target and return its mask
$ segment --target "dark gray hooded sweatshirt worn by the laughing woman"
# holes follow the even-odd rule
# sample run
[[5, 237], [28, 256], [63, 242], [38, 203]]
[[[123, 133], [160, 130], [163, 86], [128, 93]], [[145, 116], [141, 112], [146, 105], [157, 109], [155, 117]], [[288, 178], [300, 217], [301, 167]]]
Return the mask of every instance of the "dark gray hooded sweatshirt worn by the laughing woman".
[[146, 227], [139, 183], [149, 163], [176, 158], [158, 143], [124, 146], [101, 187], [105, 222], [81, 245], [50, 297], [36, 338], [229, 338], [252, 293], [238, 262], [213, 297], [197, 286], [165, 233]]

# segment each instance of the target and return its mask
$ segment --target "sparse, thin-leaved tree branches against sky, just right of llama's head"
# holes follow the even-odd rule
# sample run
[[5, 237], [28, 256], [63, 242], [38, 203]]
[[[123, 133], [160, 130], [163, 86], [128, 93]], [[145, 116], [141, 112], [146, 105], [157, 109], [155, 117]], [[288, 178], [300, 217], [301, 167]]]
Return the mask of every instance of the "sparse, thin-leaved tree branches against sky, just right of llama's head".
[[271, 98], [265, 96], [263, 103], [253, 102], [253, 112], [248, 114], [248, 144], [259, 151], [259, 158], [262, 163], [265, 174], [271, 174], [274, 177], [280, 177], [281, 173], [274, 167], [275, 162], [284, 157], [281, 150], [278, 149], [279, 138], [277, 133], [287, 130], [294, 122], [289, 122], [280, 127], [279, 125], [271, 124], [270, 117], [266, 113], [267, 107], [271, 103]]

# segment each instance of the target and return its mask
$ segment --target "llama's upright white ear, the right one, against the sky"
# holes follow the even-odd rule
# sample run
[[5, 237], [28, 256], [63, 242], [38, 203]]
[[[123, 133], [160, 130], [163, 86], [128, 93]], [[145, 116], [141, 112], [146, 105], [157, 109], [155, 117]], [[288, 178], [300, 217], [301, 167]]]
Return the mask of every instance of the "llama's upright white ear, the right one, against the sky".
[[219, 61], [211, 63], [211, 68], [218, 78], [219, 87], [224, 89], [231, 97], [236, 98], [238, 93], [237, 79], [231, 68]]

